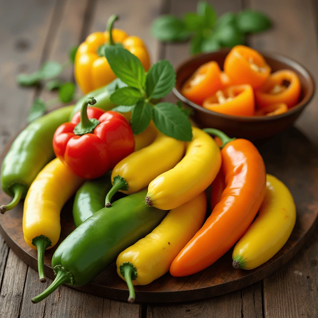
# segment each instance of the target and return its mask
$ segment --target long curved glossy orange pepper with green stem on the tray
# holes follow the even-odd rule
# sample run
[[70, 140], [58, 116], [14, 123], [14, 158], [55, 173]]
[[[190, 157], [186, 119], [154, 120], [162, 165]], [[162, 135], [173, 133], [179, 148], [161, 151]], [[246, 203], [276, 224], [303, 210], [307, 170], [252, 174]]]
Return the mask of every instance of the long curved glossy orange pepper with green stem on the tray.
[[205, 130], [225, 145], [221, 151], [225, 189], [211, 216], [173, 260], [173, 276], [202, 271], [225, 254], [252, 223], [266, 192], [265, 165], [252, 142], [230, 139], [217, 129]]

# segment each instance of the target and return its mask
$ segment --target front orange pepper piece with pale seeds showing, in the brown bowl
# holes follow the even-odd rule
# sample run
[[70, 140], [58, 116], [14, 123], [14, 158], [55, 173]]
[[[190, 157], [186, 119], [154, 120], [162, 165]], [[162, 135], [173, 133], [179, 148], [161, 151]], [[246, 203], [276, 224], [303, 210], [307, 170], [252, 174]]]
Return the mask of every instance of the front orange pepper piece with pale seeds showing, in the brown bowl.
[[213, 112], [227, 115], [253, 116], [255, 100], [252, 86], [237, 85], [219, 90], [205, 99], [202, 106]]

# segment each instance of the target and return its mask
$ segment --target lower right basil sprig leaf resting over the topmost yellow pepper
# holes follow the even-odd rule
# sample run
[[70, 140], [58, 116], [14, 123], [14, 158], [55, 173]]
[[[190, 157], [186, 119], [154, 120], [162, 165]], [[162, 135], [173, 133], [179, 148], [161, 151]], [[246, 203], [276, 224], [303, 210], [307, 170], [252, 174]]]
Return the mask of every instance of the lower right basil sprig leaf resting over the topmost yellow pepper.
[[182, 141], [192, 140], [190, 121], [176, 105], [168, 102], [156, 104], [153, 120], [163, 134]]

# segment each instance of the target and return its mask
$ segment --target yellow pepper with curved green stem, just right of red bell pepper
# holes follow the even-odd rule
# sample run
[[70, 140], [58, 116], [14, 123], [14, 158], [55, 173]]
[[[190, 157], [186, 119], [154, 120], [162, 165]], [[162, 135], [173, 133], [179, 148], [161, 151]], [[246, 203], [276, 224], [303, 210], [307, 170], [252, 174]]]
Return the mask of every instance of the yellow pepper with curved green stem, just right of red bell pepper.
[[138, 192], [156, 176], [174, 167], [183, 156], [184, 146], [185, 142], [156, 130], [154, 142], [116, 164], [111, 175], [113, 187], [106, 196], [105, 206], [111, 206], [110, 200], [117, 191]]

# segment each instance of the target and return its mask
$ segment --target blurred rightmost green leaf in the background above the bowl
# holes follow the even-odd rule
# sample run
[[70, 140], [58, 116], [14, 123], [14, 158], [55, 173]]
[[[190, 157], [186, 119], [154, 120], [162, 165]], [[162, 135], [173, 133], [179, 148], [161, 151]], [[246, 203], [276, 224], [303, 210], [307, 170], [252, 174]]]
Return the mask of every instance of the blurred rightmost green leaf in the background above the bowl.
[[271, 20], [256, 10], [243, 10], [237, 16], [237, 26], [243, 33], [262, 32], [269, 29], [271, 25]]

